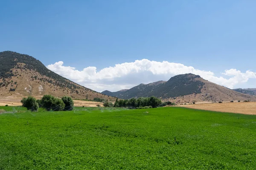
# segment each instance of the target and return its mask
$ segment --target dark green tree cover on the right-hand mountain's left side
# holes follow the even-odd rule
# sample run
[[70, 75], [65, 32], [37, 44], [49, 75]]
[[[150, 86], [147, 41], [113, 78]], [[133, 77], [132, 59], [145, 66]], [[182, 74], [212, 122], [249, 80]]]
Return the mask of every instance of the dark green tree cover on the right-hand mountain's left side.
[[106, 94], [118, 97], [120, 99], [131, 99], [149, 96], [156, 96], [158, 98], [168, 99], [189, 94], [200, 94], [204, 83], [200, 80], [197, 80], [196, 78], [201, 77], [194, 74], [181, 74], [172, 77], [167, 82], [154, 82], [147, 85], [140, 84], [127, 91], [119, 91], [118, 94], [117, 92], [113, 92], [111, 95], [109, 91], [105, 92]]

